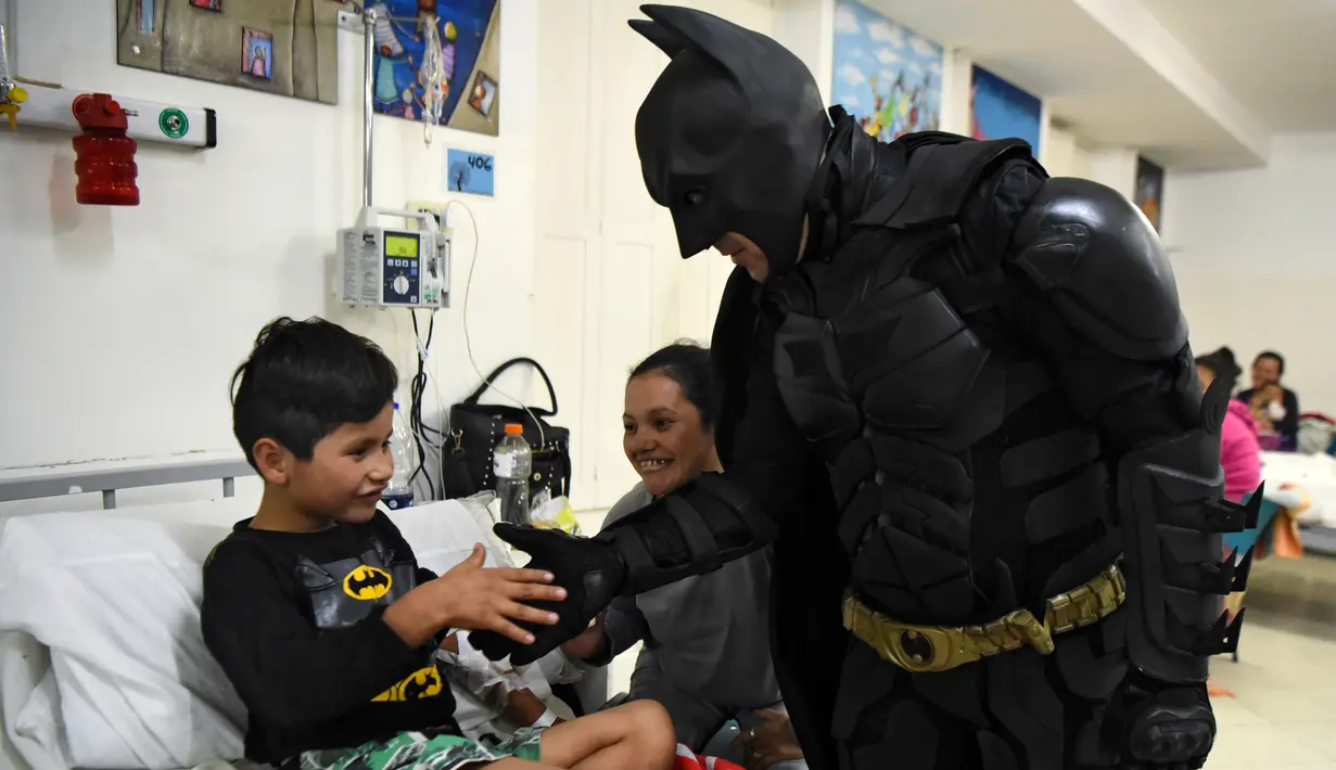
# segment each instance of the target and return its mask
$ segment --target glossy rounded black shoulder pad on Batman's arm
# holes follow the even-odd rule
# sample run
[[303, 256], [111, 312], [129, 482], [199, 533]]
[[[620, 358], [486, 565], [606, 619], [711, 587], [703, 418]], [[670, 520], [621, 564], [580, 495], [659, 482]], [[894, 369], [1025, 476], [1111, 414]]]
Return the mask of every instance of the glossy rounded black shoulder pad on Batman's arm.
[[1136, 360], [1188, 342], [1160, 236], [1132, 202], [1086, 179], [1050, 179], [1021, 216], [1014, 263], [1078, 332]]

